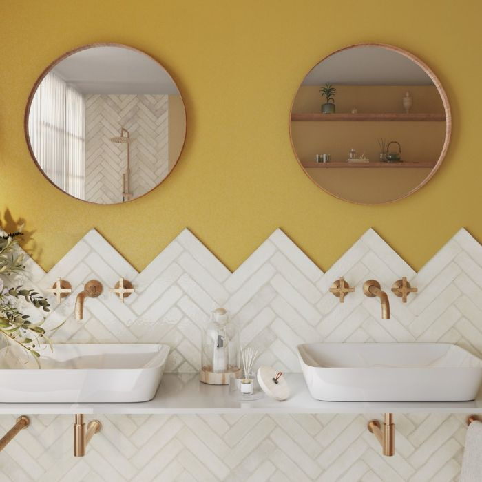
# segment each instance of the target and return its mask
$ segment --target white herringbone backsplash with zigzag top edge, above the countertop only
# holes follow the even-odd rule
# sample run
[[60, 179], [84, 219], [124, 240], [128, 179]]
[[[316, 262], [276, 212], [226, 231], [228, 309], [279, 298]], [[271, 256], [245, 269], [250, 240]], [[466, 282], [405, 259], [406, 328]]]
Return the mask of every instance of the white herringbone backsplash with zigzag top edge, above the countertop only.
[[[339, 276], [356, 291], [340, 304], [328, 292]], [[118, 277], [136, 293], [125, 304], [109, 293]], [[407, 304], [390, 293], [406, 276], [419, 292]], [[294, 347], [307, 341], [450, 342], [482, 355], [482, 247], [461, 229], [415, 273], [373, 230], [368, 229], [323, 273], [281, 229], [276, 229], [231, 273], [189, 229], [183, 230], [138, 273], [95, 229], [48, 272], [28, 260], [23, 280], [45, 293], [56, 277], [74, 293], [48, 315], [45, 326], [62, 328], [56, 342], [163, 342], [171, 346], [169, 371], [200, 368], [202, 327], [216, 306], [229, 308], [242, 342], [262, 352], [260, 362], [298, 371]], [[392, 319], [380, 319], [376, 300], [362, 283], [379, 280], [390, 296]], [[103, 295], [87, 300], [85, 320], [74, 322], [76, 293], [92, 278]], [[39, 316], [39, 313], [36, 313]]]

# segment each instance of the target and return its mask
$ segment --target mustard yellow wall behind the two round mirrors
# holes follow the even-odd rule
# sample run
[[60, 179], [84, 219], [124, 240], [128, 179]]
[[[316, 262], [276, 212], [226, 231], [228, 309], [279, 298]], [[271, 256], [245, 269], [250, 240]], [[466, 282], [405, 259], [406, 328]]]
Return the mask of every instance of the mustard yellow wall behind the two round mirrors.
[[[479, 0], [3, 1], [0, 209], [28, 220], [45, 269], [91, 227], [138, 269], [184, 227], [230, 269], [276, 227], [323, 269], [373, 227], [418, 269], [462, 226], [482, 240], [481, 15]], [[161, 61], [187, 109], [176, 169], [148, 196], [120, 206], [67, 198], [36, 169], [23, 134], [25, 103], [43, 68], [65, 50], [104, 41]], [[406, 200], [375, 207], [315, 186], [289, 140], [291, 101], [306, 72], [363, 41], [398, 45], [426, 61], [454, 121], [433, 180]]]

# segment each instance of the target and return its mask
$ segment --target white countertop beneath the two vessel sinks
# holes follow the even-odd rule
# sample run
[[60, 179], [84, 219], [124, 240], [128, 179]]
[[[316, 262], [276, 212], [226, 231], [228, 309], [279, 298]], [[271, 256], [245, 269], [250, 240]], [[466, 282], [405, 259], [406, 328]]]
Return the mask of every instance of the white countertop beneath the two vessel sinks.
[[465, 413], [482, 414], [482, 392], [473, 401], [318, 401], [301, 373], [286, 374], [291, 398], [242, 402], [229, 386], [200, 383], [197, 373], [165, 373], [156, 397], [134, 404], [0, 404], [0, 415], [35, 414], [220, 414], [220, 413]]

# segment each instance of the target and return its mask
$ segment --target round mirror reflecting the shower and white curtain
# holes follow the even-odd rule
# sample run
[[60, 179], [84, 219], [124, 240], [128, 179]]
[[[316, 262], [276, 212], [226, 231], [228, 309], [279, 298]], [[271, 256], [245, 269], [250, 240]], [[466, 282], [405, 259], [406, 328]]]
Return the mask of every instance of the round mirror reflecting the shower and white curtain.
[[176, 83], [124, 45], [87, 45], [54, 61], [25, 113], [28, 147], [44, 176], [98, 204], [136, 199], [163, 182], [185, 134]]

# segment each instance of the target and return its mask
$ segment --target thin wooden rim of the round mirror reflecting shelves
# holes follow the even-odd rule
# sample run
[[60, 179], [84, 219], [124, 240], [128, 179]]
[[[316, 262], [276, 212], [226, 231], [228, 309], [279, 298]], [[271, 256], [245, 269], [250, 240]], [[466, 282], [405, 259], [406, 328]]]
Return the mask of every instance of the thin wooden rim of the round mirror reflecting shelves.
[[[430, 79], [432, 80], [432, 82], [434, 83], [434, 86], [437, 87], [437, 91], [439, 92], [439, 95], [441, 97], [441, 101], [443, 103], [443, 110], [445, 112], [445, 116], [446, 116], [446, 129], [445, 129], [445, 139], [443, 141], [443, 146], [442, 146], [442, 149], [441, 149], [441, 153], [439, 155], [439, 158], [437, 160], [437, 163], [435, 163], [434, 167], [432, 168], [432, 170], [430, 171], [430, 173], [428, 174], [428, 176], [426, 176], [426, 178], [423, 179], [422, 182], [419, 183], [419, 185], [417, 185], [416, 187], [414, 187], [413, 189], [410, 189], [410, 191], [408, 191], [407, 193], [404, 194], [404, 196], [399, 196], [397, 198], [394, 198], [394, 199], [390, 199], [390, 200], [387, 200], [387, 201], [384, 201], [384, 202], [359, 202], [359, 201], [355, 201], [355, 200], [350, 200], [350, 199], [346, 199], [346, 198], [343, 198], [342, 196], [337, 196], [337, 194], [335, 193], [332, 193], [331, 191], [328, 191], [328, 189], [325, 189], [324, 187], [320, 186], [311, 176], [310, 174], [308, 174], [308, 172], [306, 171], [306, 169], [304, 168], [303, 164], [302, 164], [302, 161], [300, 160], [300, 158], [298, 157], [297, 155], [297, 151], [295, 149], [295, 145], [293, 143], [293, 134], [292, 134], [292, 121], [291, 121], [291, 116], [293, 114], [293, 107], [295, 105], [295, 98], [300, 90], [300, 87], [302, 86], [302, 83], [300, 83], [300, 87], [298, 87], [298, 90], [296, 91], [295, 93], [295, 96], [293, 97], [293, 102], [291, 103], [291, 109], [290, 109], [290, 114], [289, 114], [289, 136], [290, 136], [290, 142], [291, 142], [291, 147], [293, 149], [293, 152], [295, 154], [295, 158], [297, 160], [297, 163], [300, 165], [300, 167], [303, 169], [304, 171], [304, 174], [311, 180], [311, 182], [313, 182], [313, 184], [315, 184], [319, 189], [322, 189], [322, 191], [330, 194], [331, 196], [333, 196], [334, 198], [337, 198], [337, 199], [340, 199], [340, 200], [343, 200], [343, 201], [346, 201], [346, 202], [351, 202], [353, 204], [357, 204], [357, 205], [383, 205], [383, 204], [389, 204], [390, 202], [395, 202], [395, 201], [398, 201], [398, 200], [401, 200], [401, 199], [404, 199], [404, 198], [407, 198], [408, 196], [412, 195], [413, 193], [419, 191], [419, 189], [421, 189], [421, 187], [423, 187], [424, 185], [427, 184], [427, 182], [434, 176], [434, 174], [438, 171], [439, 167], [441, 166], [441, 163], [443, 162], [443, 159], [445, 158], [446, 154], [447, 154], [447, 151], [448, 151], [448, 145], [450, 144], [450, 137], [451, 137], [451, 134], [452, 134], [452, 114], [451, 114], [451, 110], [450, 110], [450, 103], [448, 101], [448, 96], [446, 94], [446, 91], [443, 89], [442, 85], [441, 85], [441, 82], [439, 81], [439, 78], [437, 78], [437, 76], [434, 74], [434, 72], [430, 69], [430, 67], [428, 67], [428, 65], [426, 63], [424, 63], [423, 61], [421, 61], [421, 59], [419, 59], [417, 56], [415, 56], [414, 54], [411, 54], [410, 52], [408, 52], [407, 50], [404, 50], [402, 48], [399, 48], [399, 47], [395, 47], [394, 45], [390, 45], [390, 44], [386, 44], [386, 43], [377, 43], [377, 42], [365, 42], [365, 43], [355, 43], [355, 44], [352, 44], [352, 45], [348, 45], [344, 48], [340, 48], [338, 50], [335, 50], [335, 52], [331, 52], [331, 54], [328, 54], [327, 56], [325, 56], [321, 61], [317, 62], [315, 65], [313, 65], [313, 67], [311, 68], [311, 70], [308, 71], [308, 73], [303, 77], [306, 78], [306, 76], [308, 76], [308, 74], [313, 70], [315, 69], [315, 67], [317, 67], [317, 65], [319, 65], [319, 63], [322, 63], [323, 61], [325, 61], [326, 59], [328, 59], [329, 57], [339, 53], [339, 52], [343, 52], [344, 50], [348, 50], [348, 49], [352, 49], [352, 48], [357, 48], [357, 47], [381, 47], [381, 48], [386, 48], [387, 50], [391, 50], [392, 52], [397, 52], [398, 54], [401, 54], [403, 56], [405, 56], [407, 59], [410, 59], [412, 62], [414, 62], [416, 65], [418, 65], [419, 67], [421, 67], [421, 69], [423, 70], [423, 72], [425, 72], [429, 77]], [[326, 114], [326, 115], [330, 115], [330, 114]]]

